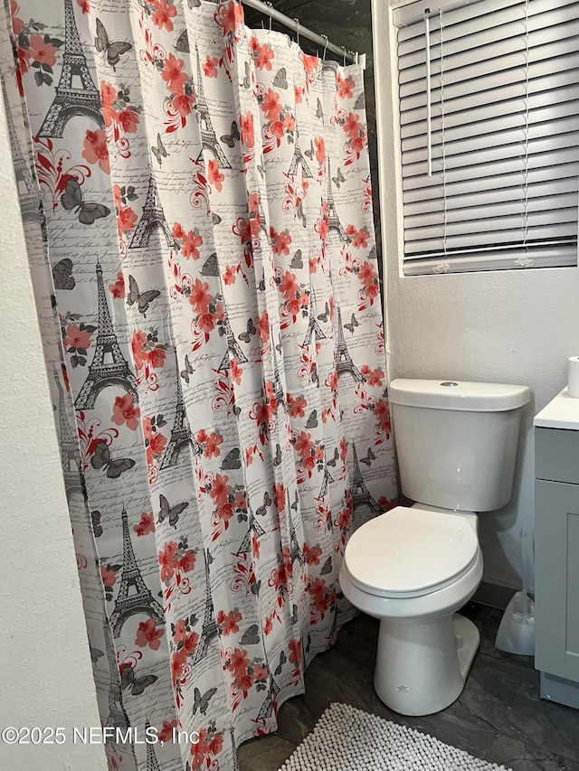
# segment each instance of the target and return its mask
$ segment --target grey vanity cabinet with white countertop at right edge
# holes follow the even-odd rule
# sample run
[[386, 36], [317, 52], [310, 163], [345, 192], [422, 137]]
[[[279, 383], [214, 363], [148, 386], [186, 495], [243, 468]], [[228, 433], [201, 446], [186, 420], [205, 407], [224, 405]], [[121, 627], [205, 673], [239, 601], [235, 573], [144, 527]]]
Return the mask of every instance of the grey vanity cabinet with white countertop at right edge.
[[535, 418], [535, 666], [541, 697], [579, 708], [579, 400]]

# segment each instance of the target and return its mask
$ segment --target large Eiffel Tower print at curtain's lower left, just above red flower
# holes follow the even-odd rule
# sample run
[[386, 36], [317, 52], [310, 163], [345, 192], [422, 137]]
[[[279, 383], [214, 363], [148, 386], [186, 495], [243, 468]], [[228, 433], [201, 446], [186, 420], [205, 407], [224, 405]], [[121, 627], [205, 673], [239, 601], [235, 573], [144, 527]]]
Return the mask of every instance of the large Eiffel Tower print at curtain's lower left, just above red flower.
[[128, 515], [123, 507], [121, 514], [123, 523], [123, 566], [120, 571], [120, 587], [115, 608], [110, 616], [112, 634], [119, 637], [122, 625], [129, 616], [143, 613], [157, 621], [157, 624], [165, 624], [165, 611], [147, 588], [147, 584], [141, 576], [138, 568], [133, 544], [128, 531]]

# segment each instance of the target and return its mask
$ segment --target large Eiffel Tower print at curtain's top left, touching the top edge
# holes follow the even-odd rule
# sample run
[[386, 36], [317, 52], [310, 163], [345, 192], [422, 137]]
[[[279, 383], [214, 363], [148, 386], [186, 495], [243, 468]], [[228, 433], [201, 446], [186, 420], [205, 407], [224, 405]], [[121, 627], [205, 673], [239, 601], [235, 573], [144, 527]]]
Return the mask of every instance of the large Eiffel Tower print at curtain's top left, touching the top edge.
[[74, 5], [72, 0], [64, 0], [64, 53], [61, 80], [37, 136], [62, 137], [64, 127], [71, 118], [76, 116], [92, 118], [100, 128], [105, 127], [100, 108], [99, 89], [90, 75], [74, 20]]

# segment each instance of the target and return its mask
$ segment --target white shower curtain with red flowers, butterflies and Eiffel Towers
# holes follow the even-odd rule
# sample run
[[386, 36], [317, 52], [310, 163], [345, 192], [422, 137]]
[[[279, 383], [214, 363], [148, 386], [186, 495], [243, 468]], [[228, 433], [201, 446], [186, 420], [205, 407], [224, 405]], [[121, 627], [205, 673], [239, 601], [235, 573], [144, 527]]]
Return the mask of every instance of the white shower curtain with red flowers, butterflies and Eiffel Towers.
[[355, 612], [346, 541], [395, 496], [363, 73], [236, 2], [3, 14], [109, 767], [227, 771]]

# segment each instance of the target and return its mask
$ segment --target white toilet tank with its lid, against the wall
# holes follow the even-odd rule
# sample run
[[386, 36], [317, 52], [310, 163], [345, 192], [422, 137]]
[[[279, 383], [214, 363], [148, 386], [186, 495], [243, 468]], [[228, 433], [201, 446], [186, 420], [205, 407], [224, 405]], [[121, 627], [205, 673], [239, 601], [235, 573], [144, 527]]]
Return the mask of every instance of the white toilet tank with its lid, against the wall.
[[508, 503], [527, 386], [399, 379], [388, 399], [404, 495], [465, 512]]

